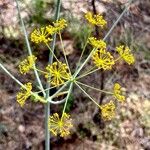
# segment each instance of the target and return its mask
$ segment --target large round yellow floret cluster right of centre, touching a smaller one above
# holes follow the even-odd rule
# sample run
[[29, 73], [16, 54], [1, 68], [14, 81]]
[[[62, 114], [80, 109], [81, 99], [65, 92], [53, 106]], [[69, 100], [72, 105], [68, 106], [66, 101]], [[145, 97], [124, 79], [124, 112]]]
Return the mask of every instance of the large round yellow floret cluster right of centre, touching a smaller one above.
[[94, 64], [100, 69], [110, 70], [115, 64], [113, 56], [109, 52], [106, 52], [105, 49], [96, 50], [93, 53], [92, 58]]

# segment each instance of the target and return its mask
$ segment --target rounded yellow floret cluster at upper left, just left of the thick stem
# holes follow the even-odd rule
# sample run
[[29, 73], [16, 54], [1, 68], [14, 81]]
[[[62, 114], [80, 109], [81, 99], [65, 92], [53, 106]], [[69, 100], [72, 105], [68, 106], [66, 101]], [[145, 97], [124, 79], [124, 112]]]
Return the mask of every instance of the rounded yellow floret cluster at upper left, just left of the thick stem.
[[31, 33], [31, 41], [39, 44], [39, 43], [48, 43], [50, 41], [52, 41], [51, 38], [49, 38], [49, 32], [47, 32], [45, 27], [42, 27], [40, 29], [35, 29], [32, 33]]

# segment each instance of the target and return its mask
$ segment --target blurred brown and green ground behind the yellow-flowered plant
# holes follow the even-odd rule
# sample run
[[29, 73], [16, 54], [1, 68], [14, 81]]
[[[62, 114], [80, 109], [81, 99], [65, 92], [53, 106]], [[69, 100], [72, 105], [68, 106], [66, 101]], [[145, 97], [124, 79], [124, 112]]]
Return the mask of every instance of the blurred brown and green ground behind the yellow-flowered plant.
[[[68, 21], [62, 33], [67, 58], [72, 70], [76, 67], [90, 32], [103, 38], [127, 5], [127, 0], [62, 0], [60, 16]], [[54, 21], [56, 0], [21, 0], [21, 15], [27, 32]], [[84, 19], [87, 11], [105, 16], [104, 31], [89, 27]], [[149, 150], [150, 149], [150, 1], [134, 0], [128, 12], [107, 39], [108, 50], [115, 53], [118, 44], [132, 50], [136, 63], [132, 66], [118, 62], [111, 71], [93, 73], [84, 83], [101, 89], [112, 89], [115, 82], [125, 87], [125, 104], [117, 107], [116, 117], [105, 122], [95, 105], [79, 89], [69, 98], [67, 112], [71, 113], [74, 128], [67, 138], [51, 137], [53, 150]], [[48, 49], [31, 43], [43, 68], [48, 61]], [[87, 46], [84, 58], [91, 50]], [[59, 59], [63, 54], [60, 41], [56, 43]], [[0, 0], [0, 61], [22, 83], [33, 81], [31, 72], [25, 76], [18, 71], [19, 62], [27, 56], [24, 35], [14, 0]], [[87, 67], [92, 65], [89, 62]], [[45, 79], [42, 78], [45, 84]], [[34, 83], [35, 84], [35, 83]], [[30, 101], [21, 108], [16, 102], [19, 86], [0, 70], [0, 150], [43, 150], [44, 107]], [[103, 103], [109, 99], [90, 89], [86, 91]], [[54, 91], [55, 92], [55, 91]], [[61, 112], [63, 105], [51, 106], [51, 112]]]

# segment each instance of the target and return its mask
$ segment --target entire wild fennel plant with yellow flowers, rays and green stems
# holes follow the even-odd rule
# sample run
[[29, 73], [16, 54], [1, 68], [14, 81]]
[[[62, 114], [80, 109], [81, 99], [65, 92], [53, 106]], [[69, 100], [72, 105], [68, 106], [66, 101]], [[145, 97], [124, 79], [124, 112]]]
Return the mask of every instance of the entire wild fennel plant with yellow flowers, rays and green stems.
[[[132, 1], [130, 0], [128, 6], [130, 5], [131, 2]], [[69, 62], [66, 57], [63, 45], [61, 32], [68, 26], [68, 24], [65, 19], [63, 18], [59, 19], [60, 0], [57, 1], [56, 21], [54, 21], [51, 25], [35, 29], [30, 36], [31, 42], [38, 45], [44, 44], [50, 51], [49, 63], [47, 66], [45, 66], [45, 69], [43, 70], [36, 66], [36, 61], [38, 61], [38, 58], [35, 55], [33, 55], [31, 51], [25, 25], [20, 15], [20, 8], [18, 2], [17, 8], [29, 53], [29, 55], [23, 61], [20, 62], [20, 65], [18, 67], [19, 72], [22, 75], [24, 75], [27, 74], [29, 71], [33, 70], [40, 91], [33, 91], [31, 82], [22, 84], [1, 63], [0, 67], [5, 73], [7, 73], [12, 79], [14, 79], [21, 86], [20, 91], [17, 93], [17, 102], [20, 104], [21, 107], [25, 107], [24, 105], [25, 103], [27, 103], [27, 100], [30, 100], [30, 96], [34, 97], [35, 102], [39, 102], [46, 105], [45, 149], [46, 150], [50, 149], [49, 132], [51, 132], [54, 136], [61, 136], [61, 137], [65, 137], [71, 134], [70, 129], [73, 126], [73, 122], [70, 114], [66, 113], [66, 107], [73, 86], [77, 86], [101, 110], [101, 115], [104, 120], [111, 120], [112, 118], [114, 118], [116, 109], [115, 100], [117, 100], [118, 102], [125, 102], [125, 95], [123, 95], [121, 85], [119, 83], [114, 83], [114, 87], [111, 91], [100, 90], [98, 88], [87, 85], [83, 82], [80, 82], [80, 79], [100, 69], [103, 69], [104, 71], [111, 70], [117, 61], [124, 60], [129, 65], [134, 64], [135, 59], [128, 46], [118, 44], [118, 46], [116, 46], [118, 57], [115, 58], [110, 52], [107, 51], [107, 44], [105, 42], [105, 40], [110, 35], [112, 30], [115, 28], [119, 20], [127, 11], [128, 7], [125, 8], [125, 10], [122, 12], [122, 14], [119, 16], [119, 18], [116, 20], [114, 25], [111, 27], [111, 29], [108, 31], [108, 33], [105, 35], [103, 39], [96, 39], [95, 37], [92, 36], [88, 38], [85, 47], [87, 46], [87, 44], [90, 44], [93, 47], [93, 49], [91, 50], [88, 57], [85, 60], [82, 60], [82, 56], [85, 50], [84, 47], [83, 53], [81, 54], [79, 62], [77, 63], [75, 72], [72, 72], [72, 70], [70, 69]], [[102, 15], [93, 15], [91, 12], [87, 12], [85, 14], [85, 19], [91, 25], [91, 27], [92, 25], [96, 25], [101, 30], [103, 30], [104, 27], [107, 26], [107, 21], [104, 19]], [[61, 42], [65, 62], [61, 62], [57, 58], [57, 55], [55, 53], [54, 48], [56, 36], [58, 36]], [[52, 46], [50, 46], [51, 42]], [[89, 69], [87, 72], [83, 74], [79, 74], [88, 61], [93, 62], [93, 68]], [[42, 81], [40, 80], [39, 73], [42, 74], [47, 80], [47, 86], [45, 88], [42, 84]], [[111, 95], [112, 99], [108, 103], [99, 105], [97, 101], [93, 97], [91, 97], [82, 87], [87, 87], [97, 92], [104, 92], [105, 94]], [[50, 91], [52, 88], [57, 88], [57, 91], [50, 96]], [[43, 93], [43, 96], [39, 95], [40, 92]], [[54, 101], [54, 98], [57, 98], [60, 95], [64, 94], [65, 95], [67, 94], [65, 99]], [[55, 112], [54, 114], [50, 115], [49, 104], [58, 105], [61, 103], [64, 103], [62, 114], [59, 115], [57, 112]]]

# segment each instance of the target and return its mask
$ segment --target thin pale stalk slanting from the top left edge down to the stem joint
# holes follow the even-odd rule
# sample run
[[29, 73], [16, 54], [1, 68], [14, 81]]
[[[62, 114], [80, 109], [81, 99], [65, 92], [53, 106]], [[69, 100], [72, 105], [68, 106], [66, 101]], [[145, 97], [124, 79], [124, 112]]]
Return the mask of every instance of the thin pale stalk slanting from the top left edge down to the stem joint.
[[[16, 4], [17, 4], [18, 15], [19, 15], [19, 18], [20, 18], [20, 21], [21, 21], [21, 26], [22, 26], [23, 33], [24, 33], [24, 36], [25, 36], [25, 41], [26, 41], [28, 53], [29, 53], [29, 55], [32, 55], [32, 50], [31, 50], [31, 46], [30, 46], [30, 43], [29, 43], [28, 34], [27, 34], [27, 31], [26, 31], [26, 28], [25, 28], [24, 21], [23, 21], [23, 19], [21, 17], [21, 14], [20, 14], [20, 7], [19, 7], [19, 4], [18, 4], [18, 0], [16, 0]], [[37, 80], [37, 82], [39, 84], [40, 89], [42, 90], [42, 93], [43, 93], [44, 97], [45, 97], [46, 93], [44, 92], [44, 88], [43, 88], [42, 82], [40, 80], [39, 74], [38, 74], [38, 72], [36, 70], [35, 64], [33, 64], [33, 69], [34, 69], [36, 80]]]

